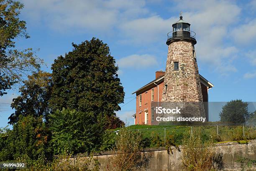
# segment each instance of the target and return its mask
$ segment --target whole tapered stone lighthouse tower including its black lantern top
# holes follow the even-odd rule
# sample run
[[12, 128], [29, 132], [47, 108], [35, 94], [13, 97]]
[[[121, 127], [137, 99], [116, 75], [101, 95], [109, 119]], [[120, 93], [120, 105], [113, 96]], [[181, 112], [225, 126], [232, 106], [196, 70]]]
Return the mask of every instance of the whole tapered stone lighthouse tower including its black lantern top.
[[200, 76], [194, 45], [197, 43], [190, 24], [180, 16], [172, 25], [166, 44], [168, 55], [162, 106], [181, 106], [182, 116], [205, 117]]

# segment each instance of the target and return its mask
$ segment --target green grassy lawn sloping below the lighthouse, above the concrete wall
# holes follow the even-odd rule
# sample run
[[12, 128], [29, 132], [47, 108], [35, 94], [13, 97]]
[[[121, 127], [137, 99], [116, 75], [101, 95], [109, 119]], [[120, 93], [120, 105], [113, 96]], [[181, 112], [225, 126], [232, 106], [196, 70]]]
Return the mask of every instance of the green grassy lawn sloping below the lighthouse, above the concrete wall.
[[[164, 135], [166, 139], [170, 136], [174, 136], [176, 137], [175, 141], [177, 141], [177, 143], [181, 143], [181, 139], [184, 135], [191, 133], [191, 126], [132, 125], [127, 128], [141, 132], [143, 138], [159, 136], [160, 139], [164, 141]], [[256, 139], [256, 127], [245, 126], [245, 133], [243, 135], [243, 126], [218, 126], [218, 132], [217, 126], [192, 126], [192, 133], [198, 131], [202, 133], [203, 139], [207, 140], [213, 138], [215, 142]]]

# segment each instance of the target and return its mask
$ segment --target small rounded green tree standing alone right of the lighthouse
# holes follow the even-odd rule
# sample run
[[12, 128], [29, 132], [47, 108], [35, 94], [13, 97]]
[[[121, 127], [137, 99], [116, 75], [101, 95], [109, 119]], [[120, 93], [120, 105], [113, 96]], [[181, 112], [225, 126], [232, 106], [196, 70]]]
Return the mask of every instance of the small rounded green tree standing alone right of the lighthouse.
[[222, 107], [220, 121], [230, 123], [244, 123], [249, 118], [248, 103], [242, 100], [232, 100]]

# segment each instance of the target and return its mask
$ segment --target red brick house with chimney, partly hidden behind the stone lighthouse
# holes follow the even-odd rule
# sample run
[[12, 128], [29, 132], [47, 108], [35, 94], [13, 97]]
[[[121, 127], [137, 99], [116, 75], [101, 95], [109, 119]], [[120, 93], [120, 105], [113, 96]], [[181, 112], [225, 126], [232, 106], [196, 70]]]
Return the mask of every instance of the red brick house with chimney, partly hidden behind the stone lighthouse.
[[[154, 80], [132, 93], [136, 93], [136, 114], [133, 115], [135, 124], [151, 125], [152, 121], [156, 118], [154, 112], [152, 112], [154, 108], [151, 108], [151, 102], [159, 102], [162, 99], [164, 75], [164, 71], [156, 71], [156, 78]], [[202, 77], [202, 75], [200, 75], [200, 84], [203, 101], [208, 102], [208, 90], [214, 85]], [[208, 110], [205, 110], [205, 112], [206, 120], [208, 121]]]

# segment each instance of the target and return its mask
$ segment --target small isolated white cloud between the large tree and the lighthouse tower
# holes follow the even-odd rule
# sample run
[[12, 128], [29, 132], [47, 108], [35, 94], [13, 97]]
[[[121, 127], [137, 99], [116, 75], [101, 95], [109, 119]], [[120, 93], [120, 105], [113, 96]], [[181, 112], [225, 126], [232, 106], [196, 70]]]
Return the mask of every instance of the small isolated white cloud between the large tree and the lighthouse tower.
[[124, 68], [141, 68], [157, 65], [156, 57], [153, 55], [130, 55], [117, 60], [118, 67]]

